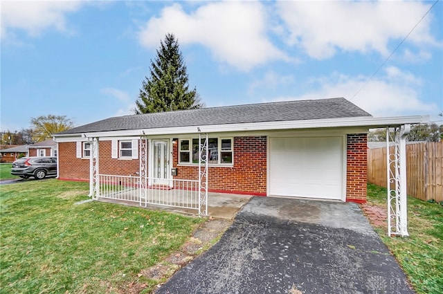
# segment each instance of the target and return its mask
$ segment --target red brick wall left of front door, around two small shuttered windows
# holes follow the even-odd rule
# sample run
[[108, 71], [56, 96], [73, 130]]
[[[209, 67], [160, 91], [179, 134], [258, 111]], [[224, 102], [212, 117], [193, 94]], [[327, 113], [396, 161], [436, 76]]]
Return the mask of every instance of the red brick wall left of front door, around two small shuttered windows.
[[[59, 143], [59, 178], [89, 181], [89, 159], [76, 157], [75, 142]], [[138, 159], [111, 158], [111, 141], [100, 141], [100, 174], [134, 175], [140, 167]]]

